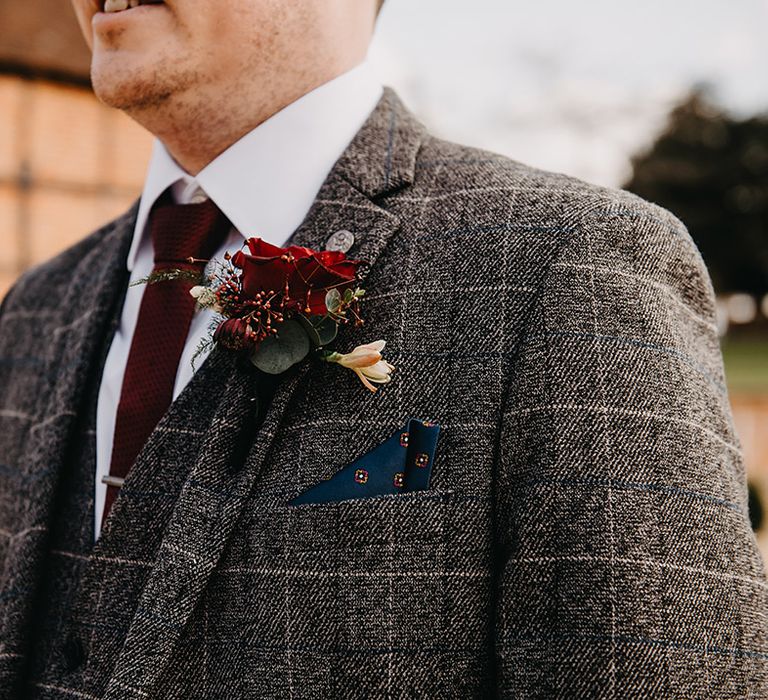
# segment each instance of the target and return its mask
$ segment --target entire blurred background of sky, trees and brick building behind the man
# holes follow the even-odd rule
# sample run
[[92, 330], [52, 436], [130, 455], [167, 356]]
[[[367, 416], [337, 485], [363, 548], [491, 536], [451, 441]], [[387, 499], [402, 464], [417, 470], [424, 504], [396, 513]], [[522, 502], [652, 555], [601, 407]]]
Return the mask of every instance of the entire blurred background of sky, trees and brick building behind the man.
[[[149, 137], [91, 93], [66, 0], [0, 0], [0, 295], [122, 213]], [[718, 294], [768, 561], [768, 0], [387, 0], [381, 79], [439, 136], [623, 187], [688, 226]]]

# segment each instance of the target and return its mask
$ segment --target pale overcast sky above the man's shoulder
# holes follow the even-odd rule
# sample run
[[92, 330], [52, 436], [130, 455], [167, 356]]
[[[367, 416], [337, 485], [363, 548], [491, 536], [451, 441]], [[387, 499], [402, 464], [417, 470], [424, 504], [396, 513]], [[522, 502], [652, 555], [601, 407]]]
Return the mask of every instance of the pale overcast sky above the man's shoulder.
[[433, 132], [620, 185], [706, 82], [768, 111], [768, 0], [387, 0], [371, 49]]

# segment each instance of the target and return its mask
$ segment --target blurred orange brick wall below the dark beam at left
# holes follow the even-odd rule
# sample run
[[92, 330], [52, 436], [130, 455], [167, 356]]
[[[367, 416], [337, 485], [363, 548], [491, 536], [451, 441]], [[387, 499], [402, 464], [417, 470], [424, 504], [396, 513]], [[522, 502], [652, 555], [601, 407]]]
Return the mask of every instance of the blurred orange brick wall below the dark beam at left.
[[151, 140], [85, 89], [0, 75], [0, 296], [124, 211]]

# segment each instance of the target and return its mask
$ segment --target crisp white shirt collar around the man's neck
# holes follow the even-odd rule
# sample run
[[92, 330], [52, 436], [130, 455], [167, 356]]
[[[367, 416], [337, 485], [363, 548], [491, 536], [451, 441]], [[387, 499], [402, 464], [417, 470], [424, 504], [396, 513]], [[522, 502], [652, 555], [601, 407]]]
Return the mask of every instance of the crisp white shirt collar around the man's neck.
[[[133, 270], [157, 198], [199, 186], [244, 238], [284, 243], [304, 220], [334, 163], [381, 98], [367, 62], [324, 83], [230, 146], [193, 178], [155, 140], [126, 266]], [[178, 188], [176, 188], [178, 189]]]

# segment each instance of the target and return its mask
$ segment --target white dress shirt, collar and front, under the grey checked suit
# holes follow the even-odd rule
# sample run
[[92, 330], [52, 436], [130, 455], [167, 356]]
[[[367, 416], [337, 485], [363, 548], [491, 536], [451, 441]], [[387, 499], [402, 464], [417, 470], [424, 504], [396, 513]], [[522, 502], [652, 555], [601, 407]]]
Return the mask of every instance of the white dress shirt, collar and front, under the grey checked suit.
[[[210, 197], [233, 224], [215, 257], [239, 250], [260, 236], [284, 244], [301, 224], [320, 186], [362, 127], [382, 94], [382, 85], [362, 63], [282, 109], [211, 161], [196, 177], [186, 173], [159, 141], [154, 144], [126, 266], [130, 283], [146, 277], [154, 264], [147, 220], [157, 198], [172, 187], [179, 204]], [[329, 232], [329, 235], [333, 232]], [[94, 533], [101, 532], [117, 406], [144, 286], [129, 286], [120, 325], [107, 355], [96, 414]], [[193, 375], [192, 357], [208, 336], [212, 314], [198, 310], [179, 362], [173, 398]], [[205, 356], [195, 361], [199, 368]]]

